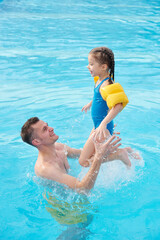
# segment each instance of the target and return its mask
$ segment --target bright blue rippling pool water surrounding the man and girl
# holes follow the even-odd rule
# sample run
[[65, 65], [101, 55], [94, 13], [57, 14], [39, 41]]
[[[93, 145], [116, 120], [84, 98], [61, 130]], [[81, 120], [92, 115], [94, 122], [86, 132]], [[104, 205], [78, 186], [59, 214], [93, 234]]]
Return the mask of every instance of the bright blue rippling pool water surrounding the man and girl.
[[[160, 2], [0, 1], [0, 239], [160, 239]], [[38, 116], [59, 141], [82, 148], [92, 129], [88, 52], [115, 53], [116, 81], [130, 103], [116, 118], [122, 146], [142, 160], [102, 166], [81, 196], [37, 179], [36, 149], [20, 129]], [[86, 169], [76, 160], [70, 174]]]

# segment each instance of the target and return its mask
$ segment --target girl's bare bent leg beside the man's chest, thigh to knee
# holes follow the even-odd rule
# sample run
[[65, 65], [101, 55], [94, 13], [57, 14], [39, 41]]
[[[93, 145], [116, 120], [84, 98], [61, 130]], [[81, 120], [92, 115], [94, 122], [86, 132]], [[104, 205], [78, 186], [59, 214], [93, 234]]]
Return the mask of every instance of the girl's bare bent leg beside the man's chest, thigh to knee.
[[91, 161], [93, 160], [93, 155], [95, 153], [95, 147], [94, 147], [94, 143], [92, 140], [92, 133], [93, 133], [94, 129], [92, 129], [90, 136], [87, 140], [87, 142], [85, 143], [82, 151], [81, 151], [81, 155], [79, 157], [79, 163], [81, 166], [83, 167], [88, 167], [91, 163]]

